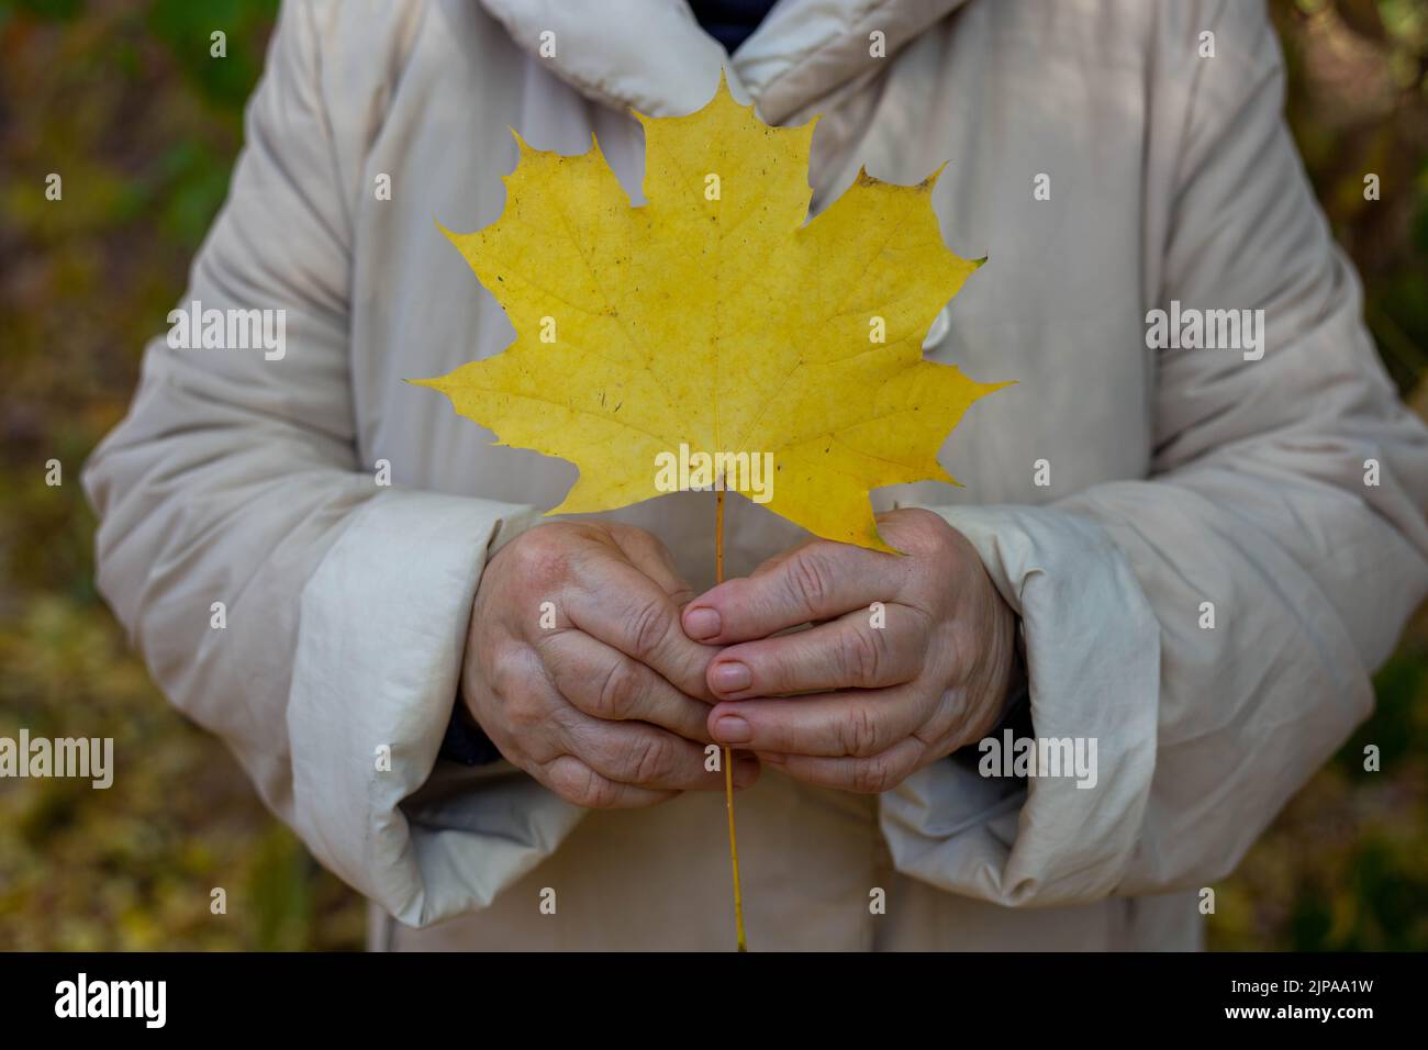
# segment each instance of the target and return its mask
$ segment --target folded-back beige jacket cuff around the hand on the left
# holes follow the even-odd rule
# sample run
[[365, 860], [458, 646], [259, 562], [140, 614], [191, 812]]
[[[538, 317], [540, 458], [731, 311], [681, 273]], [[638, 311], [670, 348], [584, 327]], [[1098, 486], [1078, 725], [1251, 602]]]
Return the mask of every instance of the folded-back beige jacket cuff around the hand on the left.
[[506, 761], [441, 763], [433, 777], [488, 550], [538, 520], [393, 490], [354, 513], [303, 589], [287, 707], [294, 827], [410, 926], [488, 904], [578, 820]]

